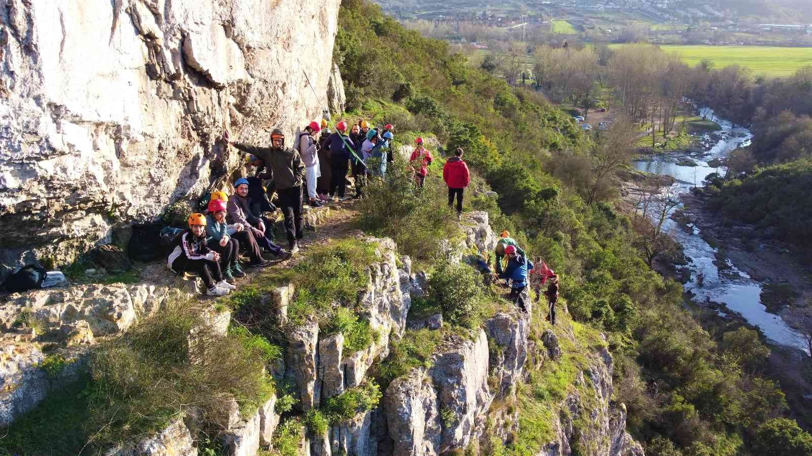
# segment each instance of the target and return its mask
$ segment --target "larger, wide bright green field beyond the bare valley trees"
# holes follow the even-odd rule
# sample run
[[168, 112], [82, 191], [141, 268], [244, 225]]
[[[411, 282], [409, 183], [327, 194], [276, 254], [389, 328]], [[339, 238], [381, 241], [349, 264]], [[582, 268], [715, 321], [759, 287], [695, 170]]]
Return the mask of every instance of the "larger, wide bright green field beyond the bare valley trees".
[[710, 45], [663, 45], [660, 48], [680, 54], [689, 65], [708, 59], [716, 68], [739, 65], [748, 67], [754, 75], [767, 77], [793, 75], [798, 68], [812, 65], [812, 48]]

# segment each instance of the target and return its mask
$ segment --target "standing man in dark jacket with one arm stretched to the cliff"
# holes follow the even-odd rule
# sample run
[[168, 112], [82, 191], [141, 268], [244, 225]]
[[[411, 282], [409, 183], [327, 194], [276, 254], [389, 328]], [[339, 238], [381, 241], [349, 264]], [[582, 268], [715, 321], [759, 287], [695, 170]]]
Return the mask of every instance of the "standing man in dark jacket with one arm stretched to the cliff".
[[228, 144], [232, 144], [235, 148], [261, 158], [265, 161], [266, 166], [270, 167], [276, 183], [276, 192], [279, 196], [279, 209], [282, 209], [285, 216], [287, 243], [291, 254], [295, 255], [299, 252], [297, 241], [304, 238], [301, 213], [305, 166], [302, 163], [301, 156], [296, 150], [284, 147], [285, 135], [279, 128], [274, 128], [274, 131], [270, 133], [270, 147], [233, 143], [228, 136], [228, 131], [226, 131], [225, 139]]

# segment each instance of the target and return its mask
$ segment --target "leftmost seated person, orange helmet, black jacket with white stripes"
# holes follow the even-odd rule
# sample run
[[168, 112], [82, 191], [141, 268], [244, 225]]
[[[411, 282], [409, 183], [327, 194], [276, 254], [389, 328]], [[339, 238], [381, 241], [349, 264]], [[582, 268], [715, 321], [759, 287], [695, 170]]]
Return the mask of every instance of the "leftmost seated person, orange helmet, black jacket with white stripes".
[[205, 239], [206, 219], [201, 213], [189, 216], [189, 229], [175, 237], [172, 252], [166, 259], [166, 267], [182, 275], [196, 273], [206, 286], [206, 295], [223, 296], [236, 286], [223, 280], [220, 256], [209, 249]]

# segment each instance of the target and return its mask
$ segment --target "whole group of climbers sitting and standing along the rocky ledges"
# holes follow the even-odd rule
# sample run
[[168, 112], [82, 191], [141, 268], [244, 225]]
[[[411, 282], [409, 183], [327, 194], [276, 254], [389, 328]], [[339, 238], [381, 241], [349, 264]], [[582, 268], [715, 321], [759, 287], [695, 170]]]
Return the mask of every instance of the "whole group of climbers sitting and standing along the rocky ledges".
[[[382, 129], [375, 128], [366, 120], [350, 128], [341, 121], [335, 127], [336, 131], [330, 132], [325, 120], [321, 124], [309, 123], [299, 135], [298, 150], [285, 147], [285, 135], [279, 128], [271, 133], [270, 147], [235, 143], [226, 131], [223, 139], [227, 144], [250, 154], [249, 164], [256, 166], [256, 172], [252, 177], [236, 179], [235, 192], [231, 196], [214, 191], [209, 198], [207, 213], [193, 213], [189, 217], [188, 230], [175, 238], [174, 248], [167, 260], [169, 268], [175, 273], [199, 275], [207, 287], [207, 295], [226, 295], [235, 290], [231, 283], [235, 277], [245, 275], [239, 262], [240, 246], [250, 258], [248, 265], [255, 267], [270, 265], [270, 261], [262, 257], [262, 250], [275, 256], [292, 255], [299, 251], [298, 241], [304, 237], [304, 195], [313, 207], [326, 204], [327, 200], [347, 200], [347, 174], [352, 168], [355, 197], [364, 197], [368, 179], [385, 175], [387, 163], [394, 160], [390, 148], [395, 128], [391, 124]], [[422, 138], [417, 138], [415, 143], [416, 148], [409, 157], [409, 163], [417, 187], [422, 188], [434, 157], [425, 148]], [[456, 200], [458, 217], [462, 213], [464, 189], [471, 182], [463, 155], [463, 149], [457, 148], [454, 156], [443, 166], [443, 180], [448, 186], [448, 205], [453, 207]], [[325, 189], [324, 178], [330, 182], [328, 189]], [[268, 199], [263, 186], [267, 179], [274, 179], [279, 209], [284, 216], [288, 251], [274, 243], [273, 222], [263, 215], [277, 209]], [[324, 191], [328, 191], [329, 196]], [[505, 257], [507, 265], [503, 267]], [[536, 261], [538, 266], [534, 267], [508, 231], [500, 235], [495, 247], [495, 259], [495, 278], [507, 281], [510, 299], [523, 312], [528, 309], [529, 303], [525, 303], [524, 296], [531, 282], [540, 299], [541, 286], [550, 279], [545, 295], [550, 302], [549, 319], [555, 325], [555, 303], [558, 298], [558, 277], [555, 273], [540, 259]]]

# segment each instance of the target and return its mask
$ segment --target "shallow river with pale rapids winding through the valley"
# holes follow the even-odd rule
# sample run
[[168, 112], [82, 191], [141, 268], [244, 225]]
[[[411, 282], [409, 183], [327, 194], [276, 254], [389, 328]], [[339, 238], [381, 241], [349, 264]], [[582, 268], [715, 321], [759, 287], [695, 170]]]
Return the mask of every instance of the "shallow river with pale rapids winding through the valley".
[[[705, 110], [702, 112], [704, 113]], [[711, 117], [714, 115], [713, 111], [708, 112], [708, 117], [714, 118]], [[708, 174], [716, 172], [724, 174], [726, 171], [724, 168], [713, 168], [708, 165], [707, 161], [725, 157], [736, 148], [749, 146], [753, 134], [748, 129], [733, 125], [728, 120], [720, 118], [714, 118], [714, 120], [722, 129], [702, 137], [702, 141], [706, 144], [715, 142], [706, 153], [654, 155], [646, 160], [635, 161], [635, 168], [649, 173], [672, 176], [676, 179], [674, 186], [680, 193], [687, 193], [695, 185], [701, 187]], [[698, 166], [676, 164], [686, 158], [695, 161]], [[717, 249], [702, 239], [697, 227], [693, 227], [693, 232], [688, 232], [669, 219], [665, 229], [677, 242], [682, 244], [685, 256], [690, 259], [688, 268], [691, 271], [691, 279], [684, 287], [686, 291], [691, 291], [696, 295], [694, 299], [697, 302], [711, 300], [723, 303], [730, 311], [740, 314], [750, 325], [758, 326], [771, 342], [784, 346], [795, 346], [806, 351], [800, 336], [790, 329], [780, 316], [767, 312], [767, 308], [761, 303], [762, 284], [760, 282], [736, 269], [736, 265], [733, 265], [730, 260], [728, 260], [729, 269], [719, 270], [714, 265]], [[702, 286], [697, 282], [700, 273], [704, 275]]]

